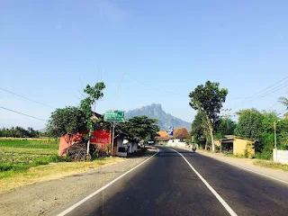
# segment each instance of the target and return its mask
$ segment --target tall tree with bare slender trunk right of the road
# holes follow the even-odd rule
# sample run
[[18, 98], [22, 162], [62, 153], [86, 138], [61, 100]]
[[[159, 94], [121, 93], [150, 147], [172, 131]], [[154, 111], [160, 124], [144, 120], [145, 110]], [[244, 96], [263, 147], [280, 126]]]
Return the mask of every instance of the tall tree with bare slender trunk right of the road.
[[212, 151], [215, 151], [213, 131], [219, 123], [219, 113], [222, 104], [226, 100], [228, 89], [220, 88], [219, 83], [207, 81], [205, 85], [198, 85], [193, 92], [189, 94], [191, 98], [190, 106], [201, 112], [209, 129], [211, 136]]

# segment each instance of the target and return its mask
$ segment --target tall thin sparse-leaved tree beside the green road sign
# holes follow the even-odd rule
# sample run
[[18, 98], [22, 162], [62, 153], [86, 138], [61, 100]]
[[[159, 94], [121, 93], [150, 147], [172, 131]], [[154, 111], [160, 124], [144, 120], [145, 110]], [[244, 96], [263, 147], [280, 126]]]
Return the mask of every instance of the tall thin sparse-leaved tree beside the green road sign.
[[103, 97], [103, 89], [105, 85], [103, 82], [96, 83], [94, 86], [86, 85], [84, 92], [87, 95], [80, 103], [82, 111], [85, 113], [86, 119], [86, 129], [89, 130], [89, 137], [87, 143], [87, 156], [89, 156], [89, 145], [92, 131], [94, 130], [94, 121], [97, 121], [97, 118], [93, 115], [92, 105], [94, 104], [94, 112], [96, 107], [96, 102]]

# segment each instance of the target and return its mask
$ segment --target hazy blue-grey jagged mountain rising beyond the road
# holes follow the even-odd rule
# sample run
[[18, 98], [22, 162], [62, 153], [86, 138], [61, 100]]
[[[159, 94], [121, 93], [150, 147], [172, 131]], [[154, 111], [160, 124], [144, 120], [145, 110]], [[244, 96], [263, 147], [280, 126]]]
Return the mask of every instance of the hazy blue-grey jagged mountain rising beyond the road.
[[191, 123], [178, 119], [173, 115], [164, 112], [161, 104], [153, 103], [139, 109], [128, 111], [125, 113], [125, 118], [130, 119], [133, 116], [140, 115], [146, 115], [148, 118], [157, 119], [159, 121], [158, 126], [161, 130], [168, 130], [169, 126], [173, 126], [174, 128], [186, 128], [188, 131], [191, 130]]

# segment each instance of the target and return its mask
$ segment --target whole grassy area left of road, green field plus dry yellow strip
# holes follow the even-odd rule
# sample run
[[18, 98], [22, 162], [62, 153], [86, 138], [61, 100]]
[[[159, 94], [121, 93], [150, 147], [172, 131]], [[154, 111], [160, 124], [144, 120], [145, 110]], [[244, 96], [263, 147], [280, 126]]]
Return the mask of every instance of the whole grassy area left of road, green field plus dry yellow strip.
[[70, 162], [67, 157], [58, 157], [58, 139], [0, 139], [0, 193], [123, 160], [105, 157], [89, 162]]

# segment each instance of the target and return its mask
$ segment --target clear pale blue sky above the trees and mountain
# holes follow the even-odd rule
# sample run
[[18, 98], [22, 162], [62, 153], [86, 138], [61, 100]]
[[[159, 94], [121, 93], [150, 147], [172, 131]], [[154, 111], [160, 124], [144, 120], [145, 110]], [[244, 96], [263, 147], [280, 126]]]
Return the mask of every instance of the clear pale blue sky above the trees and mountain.
[[[0, 87], [62, 108], [79, 103], [82, 85], [103, 81], [97, 112], [161, 103], [193, 121], [188, 94], [209, 79], [229, 89], [231, 113], [283, 112], [277, 98], [288, 96], [288, 79], [246, 98], [288, 76], [287, 8], [285, 0], [2, 1]], [[1, 89], [0, 106], [42, 119], [54, 111]], [[0, 127], [16, 125], [45, 122], [0, 109]]]

